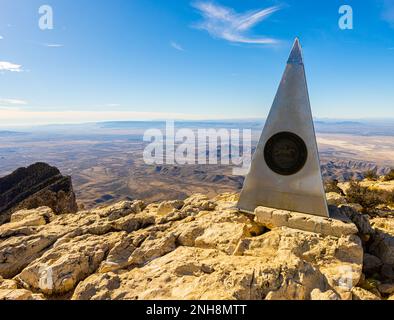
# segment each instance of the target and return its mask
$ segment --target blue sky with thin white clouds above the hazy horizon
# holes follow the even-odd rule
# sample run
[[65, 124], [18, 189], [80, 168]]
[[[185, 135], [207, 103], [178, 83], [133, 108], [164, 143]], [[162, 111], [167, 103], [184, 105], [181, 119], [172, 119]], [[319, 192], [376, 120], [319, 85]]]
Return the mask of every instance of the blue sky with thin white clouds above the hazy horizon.
[[296, 36], [315, 117], [394, 118], [394, 0], [2, 0], [0, 125], [263, 118]]

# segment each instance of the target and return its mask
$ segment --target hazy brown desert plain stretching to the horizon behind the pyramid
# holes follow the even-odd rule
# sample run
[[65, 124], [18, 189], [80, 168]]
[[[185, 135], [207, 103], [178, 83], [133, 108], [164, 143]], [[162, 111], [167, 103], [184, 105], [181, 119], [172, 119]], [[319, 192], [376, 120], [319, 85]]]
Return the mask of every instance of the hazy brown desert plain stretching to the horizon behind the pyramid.
[[[71, 175], [78, 201], [86, 207], [124, 198], [160, 201], [201, 192], [239, 191], [243, 177], [220, 165], [149, 166], [143, 162], [146, 129], [162, 122], [109, 122], [73, 126], [0, 129], [0, 176], [35, 162]], [[177, 128], [250, 128], [255, 145], [263, 122], [179, 122]], [[394, 126], [390, 123], [316, 122], [325, 177], [348, 178], [375, 165], [394, 167]]]

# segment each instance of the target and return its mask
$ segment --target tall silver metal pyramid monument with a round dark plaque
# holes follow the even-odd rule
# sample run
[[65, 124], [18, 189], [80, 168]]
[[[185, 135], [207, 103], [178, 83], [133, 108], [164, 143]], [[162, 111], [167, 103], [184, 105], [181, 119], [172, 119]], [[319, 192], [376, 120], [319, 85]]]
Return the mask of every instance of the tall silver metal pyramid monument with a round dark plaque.
[[258, 206], [329, 216], [298, 39], [238, 203], [246, 212]]

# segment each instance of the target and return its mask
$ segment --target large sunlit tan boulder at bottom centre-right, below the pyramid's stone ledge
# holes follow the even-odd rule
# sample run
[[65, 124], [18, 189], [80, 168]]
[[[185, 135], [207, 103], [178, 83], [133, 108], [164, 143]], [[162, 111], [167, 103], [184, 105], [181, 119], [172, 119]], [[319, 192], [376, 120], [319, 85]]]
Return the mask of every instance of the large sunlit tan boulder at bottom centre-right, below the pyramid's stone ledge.
[[[346, 296], [341, 272], [350, 272], [350, 287], [361, 275], [355, 236], [324, 238], [283, 228], [243, 242], [235, 256], [180, 246], [131, 271], [92, 275], [73, 299], [310, 299], [316, 288]], [[116, 287], [111, 293], [103, 289], [109, 285]]]

